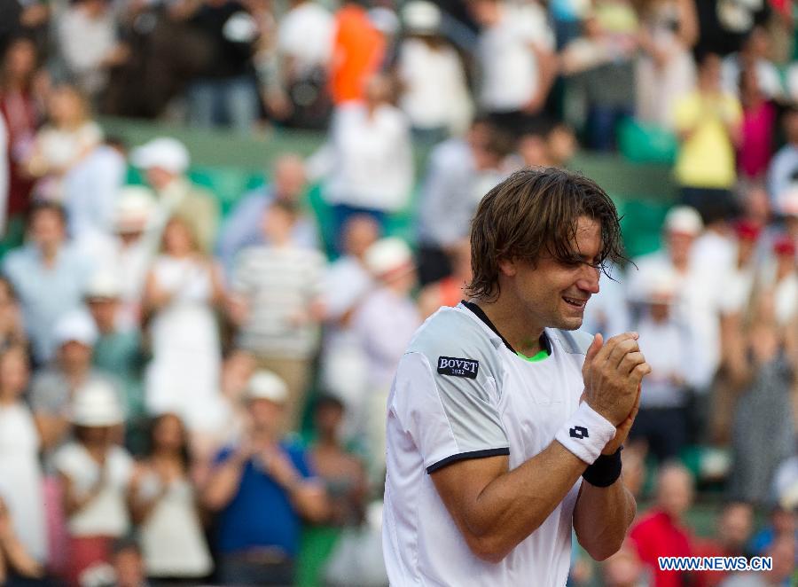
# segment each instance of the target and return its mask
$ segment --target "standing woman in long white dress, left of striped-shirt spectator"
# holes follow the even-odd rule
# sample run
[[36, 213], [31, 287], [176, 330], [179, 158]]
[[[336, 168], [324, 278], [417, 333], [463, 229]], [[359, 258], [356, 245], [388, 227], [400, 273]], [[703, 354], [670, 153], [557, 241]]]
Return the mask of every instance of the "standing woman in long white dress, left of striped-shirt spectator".
[[221, 274], [178, 218], [167, 223], [161, 251], [144, 296], [153, 349], [145, 374], [146, 406], [153, 414], [176, 413], [192, 433], [214, 429], [221, 403], [215, 316], [223, 301]]

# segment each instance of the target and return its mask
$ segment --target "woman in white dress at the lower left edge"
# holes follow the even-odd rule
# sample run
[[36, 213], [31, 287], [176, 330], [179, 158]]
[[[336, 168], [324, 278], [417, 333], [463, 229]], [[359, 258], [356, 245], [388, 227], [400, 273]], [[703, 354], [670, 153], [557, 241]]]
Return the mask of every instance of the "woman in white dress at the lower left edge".
[[44, 563], [47, 534], [39, 433], [30, 409], [20, 400], [28, 375], [24, 348], [12, 346], [0, 353], [0, 497], [20, 543]]

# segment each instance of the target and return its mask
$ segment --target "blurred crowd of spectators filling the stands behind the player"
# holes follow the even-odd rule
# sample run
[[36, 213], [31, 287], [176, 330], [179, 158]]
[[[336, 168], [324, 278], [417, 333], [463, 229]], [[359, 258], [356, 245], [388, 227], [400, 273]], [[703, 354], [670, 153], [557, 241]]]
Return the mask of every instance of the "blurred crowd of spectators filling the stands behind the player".
[[[637, 331], [652, 364], [623, 461], [653, 508], [600, 567], [575, 551], [571, 582], [790, 584], [793, 12], [0, 0], [0, 584], [288, 585], [308, 528], [337, 537], [309, 584], [386, 584], [387, 390], [416, 328], [464, 296], [481, 196], [580, 143], [633, 158], [669, 141], [661, 249], [607, 267], [583, 326]], [[327, 138], [223, 216], [185, 145], [126, 145], [98, 114]], [[411, 242], [387, 234], [408, 209]], [[711, 540], [685, 517], [696, 488], [724, 499]], [[688, 554], [774, 567], [657, 570]]]

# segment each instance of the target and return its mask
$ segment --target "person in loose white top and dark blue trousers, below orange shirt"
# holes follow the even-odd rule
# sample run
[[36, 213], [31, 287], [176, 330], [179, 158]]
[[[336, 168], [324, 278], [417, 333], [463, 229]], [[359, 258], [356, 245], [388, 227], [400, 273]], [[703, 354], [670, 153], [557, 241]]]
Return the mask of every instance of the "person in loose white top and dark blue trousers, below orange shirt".
[[355, 214], [372, 215], [382, 225], [388, 214], [410, 200], [410, 129], [404, 113], [391, 104], [392, 85], [387, 76], [373, 76], [365, 101], [340, 106], [327, 144], [309, 160], [309, 175], [325, 176], [333, 234], [340, 234], [340, 227]]

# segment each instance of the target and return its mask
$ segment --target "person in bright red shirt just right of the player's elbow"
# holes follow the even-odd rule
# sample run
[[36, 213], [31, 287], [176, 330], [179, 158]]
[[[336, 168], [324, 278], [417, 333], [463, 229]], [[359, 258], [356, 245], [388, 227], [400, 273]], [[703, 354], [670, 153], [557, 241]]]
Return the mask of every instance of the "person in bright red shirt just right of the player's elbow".
[[692, 555], [692, 536], [683, 516], [692, 504], [692, 477], [684, 466], [662, 466], [656, 504], [630, 530], [638, 556], [653, 575], [653, 587], [682, 587], [685, 573], [661, 571], [659, 557]]

